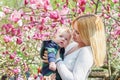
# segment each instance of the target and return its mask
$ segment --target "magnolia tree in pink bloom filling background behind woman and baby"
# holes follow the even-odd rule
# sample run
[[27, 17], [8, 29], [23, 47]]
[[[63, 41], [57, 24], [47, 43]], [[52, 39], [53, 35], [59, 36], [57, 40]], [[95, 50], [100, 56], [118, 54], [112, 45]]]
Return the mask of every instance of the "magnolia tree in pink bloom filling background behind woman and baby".
[[89, 13], [103, 18], [110, 75], [118, 72], [112, 73], [111, 67], [120, 69], [119, 0], [3, 0], [0, 6], [0, 72], [36, 73], [41, 41], [54, 37], [62, 25], [70, 26], [76, 16]]

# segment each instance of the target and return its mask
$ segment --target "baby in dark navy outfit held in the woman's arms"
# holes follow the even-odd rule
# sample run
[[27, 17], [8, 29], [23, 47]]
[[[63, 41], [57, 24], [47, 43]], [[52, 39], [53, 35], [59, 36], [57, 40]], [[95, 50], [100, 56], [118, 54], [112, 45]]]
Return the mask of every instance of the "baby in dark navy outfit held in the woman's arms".
[[42, 43], [42, 48], [40, 50], [40, 57], [43, 59], [44, 51], [46, 50], [48, 52], [48, 62], [43, 63], [42, 65], [42, 75], [48, 76], [51, 73], [54, 73], [56, 71], [56, 54], [58, 50], [60, 50], [60, 56], [63, 59], [65, 48], [69, 44], [71, 40], [71, 32], [68, 27], [61, 27], [58, 31], [56, 36], [53, 38], [53, 40], [46, 40]]

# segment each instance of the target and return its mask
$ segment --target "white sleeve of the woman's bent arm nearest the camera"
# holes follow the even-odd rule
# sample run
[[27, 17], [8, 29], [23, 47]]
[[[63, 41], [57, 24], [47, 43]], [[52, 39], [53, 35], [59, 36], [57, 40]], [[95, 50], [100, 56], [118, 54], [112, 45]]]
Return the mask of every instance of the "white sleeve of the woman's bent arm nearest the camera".
[[75, 61], [73, 71], [70, 71], [63, 61], [57, 63], [57, 70], [62, 80], [85, 80], [93, 65], [93, 56], [90, 48], [82, 48]]

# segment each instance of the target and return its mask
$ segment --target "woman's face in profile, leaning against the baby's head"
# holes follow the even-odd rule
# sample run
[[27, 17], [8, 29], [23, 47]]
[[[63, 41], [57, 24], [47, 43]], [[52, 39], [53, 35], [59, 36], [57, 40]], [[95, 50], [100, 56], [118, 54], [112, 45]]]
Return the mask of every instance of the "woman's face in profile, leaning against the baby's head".
[[73, 40], [77, 43], [82, 42], [82, 40], [80, 39], [80, 35], [79, 35], [79, 31], [78, 31], [78, 26], [76, 23], [74, 23], [73, 25]]

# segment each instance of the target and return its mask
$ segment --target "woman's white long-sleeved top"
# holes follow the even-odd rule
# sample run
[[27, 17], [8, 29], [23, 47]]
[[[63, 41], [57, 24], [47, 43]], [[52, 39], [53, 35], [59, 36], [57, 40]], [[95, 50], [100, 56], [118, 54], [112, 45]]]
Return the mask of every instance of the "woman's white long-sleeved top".
[[67, 52], [77, 45], [76, 42], [70, 43], [66, 48], [64, 60], [57, 63], [62, 80], [86, 80], [91, 71], [93, 55], [90, 46], [79, 48], [67, 55]]

